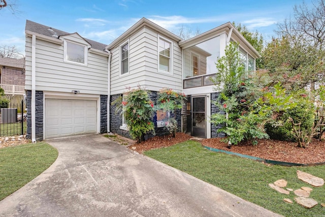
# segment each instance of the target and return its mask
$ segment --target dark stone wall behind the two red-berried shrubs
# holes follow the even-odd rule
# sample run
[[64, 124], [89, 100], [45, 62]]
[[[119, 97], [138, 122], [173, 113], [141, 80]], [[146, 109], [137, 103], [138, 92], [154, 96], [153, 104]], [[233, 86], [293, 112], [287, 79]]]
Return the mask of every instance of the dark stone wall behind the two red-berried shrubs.
[[[114, 100], [116, 100], [120, 96], [122, 96], [122, 95], [118, 94], [118, 95], [112, 95], [110, 97], [110, 132], [116, 133], [118, 135], [121, 135], [121, 136], [124, 136], [127, 138], [131, 138], [131, 135], [129, 135], [128, 131], [120, 129], [120, 127], [122, 126], [122, 116], [120, 114], [115, 113], [116, 106], [112, 105], [112, 102], [114, 102]], [[156, 104], [157, 92], [151, 91], [149, 97], [150, 97], [150, 100], [154, 104]], [[177, 120], [178, 126], [179, 126], [177, 132], [180, 132], [181, 131], [181, 110], [180, 109], [178, 109], [176, 111], [176, 120]], [[156, 113], [154, 114], [152, 121], [155, 126], [155, 135], [156, 136], [164, 136], [164, 135], [169, 134], [169, 132], [167, 130], [165, 130], [164, 128], [157, 128]], [[147, 135], [145, 135], [145, 140], [147, 140], [148, 138], [151, 138], [151, 137], [153, 137], [152, 134], [147, 134]]]

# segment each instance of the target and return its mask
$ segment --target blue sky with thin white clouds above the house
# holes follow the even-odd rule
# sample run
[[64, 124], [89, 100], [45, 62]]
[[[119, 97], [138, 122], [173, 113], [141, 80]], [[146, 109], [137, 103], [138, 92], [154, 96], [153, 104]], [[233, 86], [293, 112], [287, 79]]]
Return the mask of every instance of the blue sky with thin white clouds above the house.
[[[302, 0], [7, 0], [19, 11], [0, 10], [0, 46], [15, 45], [24, 54], [26, 19], [104, 44], [111, 43], [142, 17], [177, 33], [178, 28], [199, 29], [204, 33], [225, 22], [245, 24], [274, 35], [276, 24], [293, 16], [294, 5]], [[311, 0], [305, 1], [308, 5]]]

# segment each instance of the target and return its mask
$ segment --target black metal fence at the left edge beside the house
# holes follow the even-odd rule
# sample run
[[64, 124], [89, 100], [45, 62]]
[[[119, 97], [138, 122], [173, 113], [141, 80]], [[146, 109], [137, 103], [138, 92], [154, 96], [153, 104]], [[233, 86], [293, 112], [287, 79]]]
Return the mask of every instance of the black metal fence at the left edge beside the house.
[[16, 136], [26, 133], [27, 122], [24, 101], [17, 104], [10, 104], [8, 108], [0, 111], [0, 136]]

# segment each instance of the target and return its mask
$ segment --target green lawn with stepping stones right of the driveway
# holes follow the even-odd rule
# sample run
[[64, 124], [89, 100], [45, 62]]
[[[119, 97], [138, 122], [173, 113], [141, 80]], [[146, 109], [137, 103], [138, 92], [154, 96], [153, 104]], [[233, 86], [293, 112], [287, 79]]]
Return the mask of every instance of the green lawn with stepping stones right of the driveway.
[[[297, 177], [297, 170], [301, 170], [325, 179], [325, 166], [267, 166], [253, 160], [209, 151], [196, 141], [153, 149], [144, 154], [278, 214], [325, 216], [325, 208], [320, 206], [320, 203], [325, 203], [325, 186], [315, 188]], [[318, 205], [306, 209], [295, 202], [293, 192], [284, 195], [268, 186], [269, 183], [281, 178], [287, 180], [286, 188], [294, 190], [303, 186], [312, 188], [310, 198], [316, 200]], [[294, 203], [285, 203], [284, 198], [289, 198]]]

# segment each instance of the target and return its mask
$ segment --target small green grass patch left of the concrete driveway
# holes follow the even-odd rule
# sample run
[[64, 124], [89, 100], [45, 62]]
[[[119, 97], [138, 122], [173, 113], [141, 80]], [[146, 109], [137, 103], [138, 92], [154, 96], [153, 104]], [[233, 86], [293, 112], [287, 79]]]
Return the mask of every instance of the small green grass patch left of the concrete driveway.
[[46, 170], [57, 150], [44, 142], [0, 149], [0, 200], [23, 187]]

